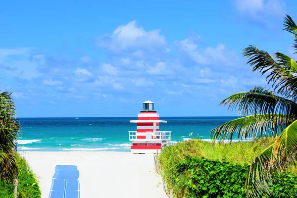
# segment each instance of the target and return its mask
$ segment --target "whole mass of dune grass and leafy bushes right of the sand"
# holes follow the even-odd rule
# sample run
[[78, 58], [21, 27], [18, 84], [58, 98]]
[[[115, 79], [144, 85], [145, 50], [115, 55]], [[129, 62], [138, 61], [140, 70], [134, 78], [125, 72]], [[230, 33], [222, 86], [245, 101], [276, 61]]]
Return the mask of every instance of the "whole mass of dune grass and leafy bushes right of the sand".
[[[159, 155], [167, 189], [175, 198], [246, 198], [249, 165], [276, 138], [253, 142], [211, 144], [189, 140], [164, 148]], [[262, 198], [290, 198], [297, 193], [297, 175], [273, 172], [271, 194]]]

